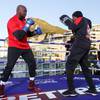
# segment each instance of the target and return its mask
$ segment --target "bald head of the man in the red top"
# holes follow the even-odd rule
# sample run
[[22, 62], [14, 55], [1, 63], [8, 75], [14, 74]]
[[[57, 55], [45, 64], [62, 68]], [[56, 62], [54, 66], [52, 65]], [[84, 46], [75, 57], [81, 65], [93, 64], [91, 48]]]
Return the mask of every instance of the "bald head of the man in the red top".
[[24, 5], [18, 5], [16, 14], [18, 15], [19, 19], [24, 19], [27, 14], [27, 9]]

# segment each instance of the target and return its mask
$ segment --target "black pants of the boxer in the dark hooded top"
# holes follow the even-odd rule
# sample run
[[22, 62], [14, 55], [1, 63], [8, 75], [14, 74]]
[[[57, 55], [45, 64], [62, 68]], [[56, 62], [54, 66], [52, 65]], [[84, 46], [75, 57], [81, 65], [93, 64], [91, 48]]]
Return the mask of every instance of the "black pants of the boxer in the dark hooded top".
[[73, 74], [77, 64], [81, 65], [85, 79], [90, 89], [95, 89], [92, 81], [91, 72], [88, 68], [88, 53], [91, 42], [87, 39], [76, 39], [66, 62], [68, 89], [74, 90]]

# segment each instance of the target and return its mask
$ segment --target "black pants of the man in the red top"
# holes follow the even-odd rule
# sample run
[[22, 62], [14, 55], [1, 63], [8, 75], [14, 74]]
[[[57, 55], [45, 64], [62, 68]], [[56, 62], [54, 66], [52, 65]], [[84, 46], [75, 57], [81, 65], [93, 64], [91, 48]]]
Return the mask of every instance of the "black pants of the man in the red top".
[[34, 77], [36, 75], [36, 62], [31, 49], [18, 49], [15, 47], [8, 48], [7, 65], [3, 71], [1, 80], [6, 82], [11, 74], [11, 71], [16, 64], [17, 59], [22, 56], [25, 62], [28, 64], [29, 75]]

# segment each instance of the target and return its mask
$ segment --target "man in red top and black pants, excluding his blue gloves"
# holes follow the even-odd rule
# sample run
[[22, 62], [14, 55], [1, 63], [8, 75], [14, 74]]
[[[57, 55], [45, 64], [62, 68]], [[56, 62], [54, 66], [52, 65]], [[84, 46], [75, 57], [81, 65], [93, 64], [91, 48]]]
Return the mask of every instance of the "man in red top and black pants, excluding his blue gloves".
[[7, 24], [8, 57], [7, 57], [7, 65], [4, 69], [0, 81], [0, 96], [4, 95], [5, 82], [8, 80], [15, 63], [20, 56], [22, 56], [22, 58], [28, 64], [29, 68], [30, 80], [28, 89], [33, 90], [33, 92], [40, 91], [40, 89], [35, 85], [35, 80], [34, 80], [36, 75], [35, 72], [36, 62], [32, 50], [30, 49], [30, 46], [27, 42], [27, 37], [32, 36], [30, 35], [32, 32], [25, 31], [26, 14], [27, 14], [26, 7], [23, 5], [19, 5], [16, 10], [16, 15], [14, 15], [8, 21]]

